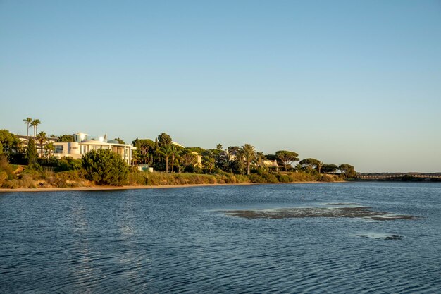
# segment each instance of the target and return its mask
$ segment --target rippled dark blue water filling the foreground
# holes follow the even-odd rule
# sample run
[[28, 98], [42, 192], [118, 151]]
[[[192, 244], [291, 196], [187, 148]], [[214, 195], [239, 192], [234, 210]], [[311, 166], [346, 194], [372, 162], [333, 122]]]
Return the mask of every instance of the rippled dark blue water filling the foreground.
[[[327, 203], [423, 219], [223, 213]], [[441, 293], [440, 212], [439, 183], [2, 193], [0, 293]]]

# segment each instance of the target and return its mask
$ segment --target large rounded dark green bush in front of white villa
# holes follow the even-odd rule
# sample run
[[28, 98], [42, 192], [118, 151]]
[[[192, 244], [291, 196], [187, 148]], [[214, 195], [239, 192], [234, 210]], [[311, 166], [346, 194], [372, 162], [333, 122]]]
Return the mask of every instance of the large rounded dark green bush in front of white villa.
[[109, 149], [97, 149], [82, 156], [85, 178], [99, 185], [124, 185], [129, 167], [123, 159]]

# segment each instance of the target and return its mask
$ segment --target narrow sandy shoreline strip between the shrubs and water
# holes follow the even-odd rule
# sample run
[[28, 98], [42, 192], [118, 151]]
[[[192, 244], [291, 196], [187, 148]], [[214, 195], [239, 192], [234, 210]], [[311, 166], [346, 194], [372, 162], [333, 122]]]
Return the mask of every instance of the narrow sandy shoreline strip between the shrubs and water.
[[60, 192], [60, 191], [104, 191], [104, 190], [139, 190], [139, 189], [166, 189], [166, 188], [191, 188], [191, 187], [211, 187], [227, 185], [290, 185], [290, 184], [320, 184], [320, 183], [345, 183], [339, 182], [292, 182], [292, 183], [228, 183], [228, 184], [182, 184], [182, 185], [142, 185], [142, 186], [94, 186], [94, 187], [69, 187], [69, 188], [0, 188], [1, 193], [7, 192]]

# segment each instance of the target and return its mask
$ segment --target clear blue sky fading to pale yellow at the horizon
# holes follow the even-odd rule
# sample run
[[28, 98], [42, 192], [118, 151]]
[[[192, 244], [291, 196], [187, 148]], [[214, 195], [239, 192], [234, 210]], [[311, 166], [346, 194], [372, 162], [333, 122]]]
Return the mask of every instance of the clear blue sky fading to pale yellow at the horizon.
[[441, 1], [0, 0], [0, 129], [441, 171]]

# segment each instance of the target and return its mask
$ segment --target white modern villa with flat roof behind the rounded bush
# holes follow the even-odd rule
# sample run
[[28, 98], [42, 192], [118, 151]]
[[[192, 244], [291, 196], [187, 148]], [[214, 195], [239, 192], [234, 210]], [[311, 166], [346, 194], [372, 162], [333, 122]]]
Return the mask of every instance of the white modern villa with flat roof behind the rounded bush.
[[73, 134], [74, 142], [54, 142], [54, 157], [60, 159], [61, 157], [73, 157], [75, 159], [81, 158], [91, 150], [110, 149], [119, 154], [120, 157], [127, 163], [132, 164], [132, 152], [136, 149], [129, 144], [120, 144], [117, 140], [107, 140], [106, 136], [99, 137], [99, 140], [88, 139], [85, 133]]

